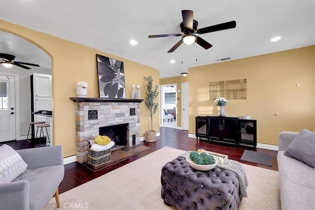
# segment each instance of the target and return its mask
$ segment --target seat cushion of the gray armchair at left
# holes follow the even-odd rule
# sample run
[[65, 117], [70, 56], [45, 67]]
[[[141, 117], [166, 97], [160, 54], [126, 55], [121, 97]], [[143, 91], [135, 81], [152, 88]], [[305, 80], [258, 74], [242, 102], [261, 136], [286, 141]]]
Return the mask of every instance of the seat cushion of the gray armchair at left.
[[[51, 176], [51, 175], [54, 176]], [[47, 166], [29, 169], [13, 181], [30, 182], [30, 210], [44, 209], [63, 180], [64, 166]]]

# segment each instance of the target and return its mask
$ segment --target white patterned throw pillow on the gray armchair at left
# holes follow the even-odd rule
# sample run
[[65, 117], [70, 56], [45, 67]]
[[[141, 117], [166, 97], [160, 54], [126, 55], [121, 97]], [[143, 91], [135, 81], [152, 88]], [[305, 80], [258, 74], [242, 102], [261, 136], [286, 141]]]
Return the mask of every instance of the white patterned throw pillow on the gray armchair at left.
[[0, 184], [8, 183], [26, 171], [28, 164], [8, 145], [0, 147]]

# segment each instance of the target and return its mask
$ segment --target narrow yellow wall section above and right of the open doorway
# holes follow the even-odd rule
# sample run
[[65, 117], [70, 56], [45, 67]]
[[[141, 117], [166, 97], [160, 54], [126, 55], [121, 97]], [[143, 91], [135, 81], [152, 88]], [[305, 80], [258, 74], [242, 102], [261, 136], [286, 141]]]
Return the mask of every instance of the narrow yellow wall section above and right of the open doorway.
[[[177, 84], [177, 90], [182, 89], [182, 83], [188, 83], [189, 75], [186, 77], [169, 77], [164, 79], [159, 79], [160, 85]], [[177, 92], [177, 126], [182, 126], [182, 92]]]

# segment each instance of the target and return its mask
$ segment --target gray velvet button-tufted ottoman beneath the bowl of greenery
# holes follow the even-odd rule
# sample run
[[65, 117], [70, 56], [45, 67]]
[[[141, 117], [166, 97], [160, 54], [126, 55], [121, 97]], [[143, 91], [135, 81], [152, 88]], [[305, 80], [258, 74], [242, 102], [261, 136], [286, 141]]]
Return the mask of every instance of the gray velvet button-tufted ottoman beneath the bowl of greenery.
[[180, 210], [237, 210], [241, 200], [234, 172], [218, 167], [198, 171], [183, 157], [163, 166], [161, 185], [164, 203]]

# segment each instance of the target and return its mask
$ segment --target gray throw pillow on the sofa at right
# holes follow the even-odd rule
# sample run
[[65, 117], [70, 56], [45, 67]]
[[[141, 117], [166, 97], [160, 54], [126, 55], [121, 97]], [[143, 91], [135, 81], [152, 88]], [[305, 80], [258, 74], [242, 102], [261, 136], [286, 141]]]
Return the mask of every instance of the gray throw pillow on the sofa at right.
[[287, 146], [284, 155], [315, 168], [315, 133], [303, 129]]

